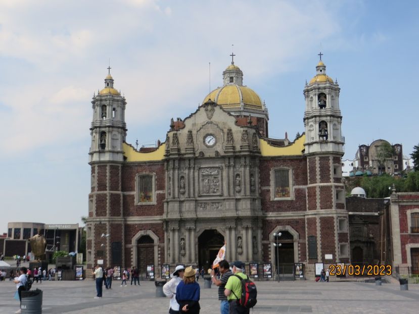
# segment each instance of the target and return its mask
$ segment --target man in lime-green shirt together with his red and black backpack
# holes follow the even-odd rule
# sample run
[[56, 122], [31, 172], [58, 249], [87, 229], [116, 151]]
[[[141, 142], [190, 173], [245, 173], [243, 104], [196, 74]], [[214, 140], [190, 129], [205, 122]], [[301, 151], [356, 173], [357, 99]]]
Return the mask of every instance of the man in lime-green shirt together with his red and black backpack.
[[243, 274], [245, 264], [235, 261], [231, 264], [234, 275], [225, 284], [224, 294], [229, 305], [229, 314], [249, 314], [249, 310], [256, 304], [256, 286]]

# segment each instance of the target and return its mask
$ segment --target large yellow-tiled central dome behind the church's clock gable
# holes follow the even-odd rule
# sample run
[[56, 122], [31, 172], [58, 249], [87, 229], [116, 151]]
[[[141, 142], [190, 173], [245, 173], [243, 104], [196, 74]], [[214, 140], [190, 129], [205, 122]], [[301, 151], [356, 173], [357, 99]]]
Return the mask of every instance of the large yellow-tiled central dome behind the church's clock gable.
[[210, 92], [202, 103], [208, 99], [215, 101], [219, 106], [227, 110], [241, 109], [242, 103], [244, 104], [244, 109], [263, 110], [262, 100], [259, 95], [253, 89], [245, 86], [225, 85], [219, 87]]

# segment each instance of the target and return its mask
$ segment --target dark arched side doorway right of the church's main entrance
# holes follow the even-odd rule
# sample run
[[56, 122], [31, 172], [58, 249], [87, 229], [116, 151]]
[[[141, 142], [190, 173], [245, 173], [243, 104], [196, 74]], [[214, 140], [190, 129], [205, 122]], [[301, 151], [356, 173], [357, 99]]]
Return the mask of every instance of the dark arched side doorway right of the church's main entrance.
[[294, 270], [294, 236], [288, 231], [281, 231], [278, 246], [275, 249], [275, 265], [278, 265], [279, 274], [292, 274]]

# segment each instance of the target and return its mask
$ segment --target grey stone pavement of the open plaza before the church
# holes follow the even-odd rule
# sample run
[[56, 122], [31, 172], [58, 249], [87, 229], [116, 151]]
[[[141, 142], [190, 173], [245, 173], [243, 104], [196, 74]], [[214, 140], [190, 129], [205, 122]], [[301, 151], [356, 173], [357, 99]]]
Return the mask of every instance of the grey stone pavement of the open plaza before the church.
[[[217, 288], [201, 285], [201, 313], [219, 313]], [[409, 284], [408, 291], [400, 291], [398, 283], [256, 281], [258, 303], [254, 314], [287, 312], [312, 313], [417, 313], [419, 285]], [[34, 283], [32, 289], [43, 291], [42, 313], [141, 313], [168, 312], [169, 299], [156, 298], [154, 282], [141, 282], [141, 287], [121, 287], [113, 281], [112, 289], [103, 291], [102, 299], [94, 299], [95, 282], [59, 281]], [[16, 286], [11, 281], [0, 282], [0, 313], [14, 313], [19, 304], [13, 298]], [[252, 313], [252, 310], [250, 311]]]

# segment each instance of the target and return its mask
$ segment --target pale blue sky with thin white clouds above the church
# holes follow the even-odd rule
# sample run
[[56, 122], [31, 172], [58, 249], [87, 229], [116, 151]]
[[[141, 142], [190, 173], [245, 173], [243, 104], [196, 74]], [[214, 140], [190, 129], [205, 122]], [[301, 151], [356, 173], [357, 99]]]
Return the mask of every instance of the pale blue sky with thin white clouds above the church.
[[[0, 233], [88, 213], [91, 97], [111, 66], [127, 142], [165, 140], [235, 64], [269, 136], [304, 132], [321, 51], [341, 88], [343, 159], [376, 139], [418, 144], [417, 1], [0, 0]], [[209, 63], [211, 71], [209, 75]]]

